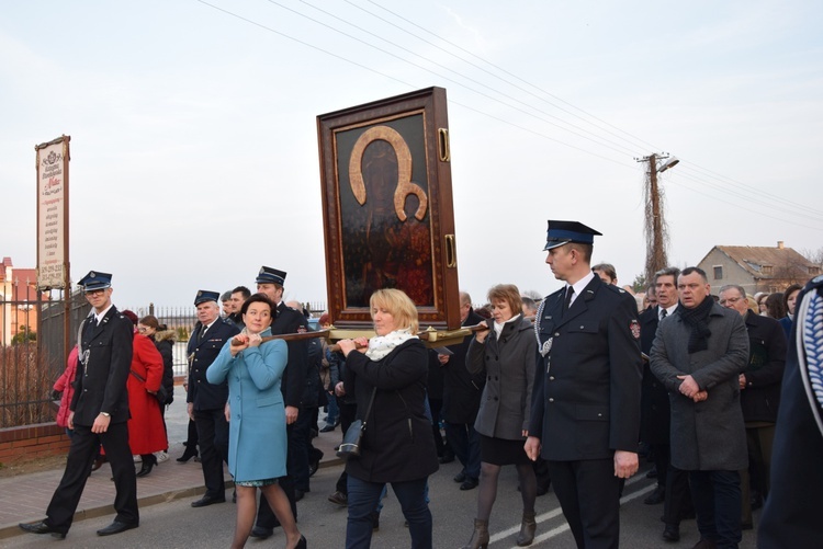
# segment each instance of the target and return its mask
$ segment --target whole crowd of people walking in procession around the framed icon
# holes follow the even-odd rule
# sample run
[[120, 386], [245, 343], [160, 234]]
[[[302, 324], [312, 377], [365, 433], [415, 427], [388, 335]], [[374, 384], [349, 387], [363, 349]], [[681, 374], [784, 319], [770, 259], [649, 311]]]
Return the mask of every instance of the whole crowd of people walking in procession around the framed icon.
[[[578, 547], [618, 547], [623, 485], [642, 459], [657, 481], [644, 503], [663, 504], [662, 541], [679, 541], [680, 522], [695, 517], [696, 548], [737, 547], [752, 511], [775, 507], [771, 494], [780, 493], [771, 456], [803, 288], [748, 296], [725, 285], [714, 295], [700, 268], [666, 267], [635, 299], [618, 287], [612, 265], [591, 265], [598, 235], [549, 221], [545, 262], [564, 287], [534, 300], [500, 284], [477, 308], [461, 293], [471, 335], [437, 350], [418, 338], [417, 309], [399, 289], [372, 294], [374, 338], [335, 345], [307, 336], [307, 311], [283, 302], [283, 271], [261, 267], [256, 294], [198, 291], [184, 384], [189, 439], [178, 458], [196, 457], [203, 470], [205, 493], [192, 507], [226, 501], [225, 462], [236, 487], [232, 547], [282, 527], [286, 547], [305, 548], [297, 502], [322, 457], [312, 438], [354, 425], [359, 455], [328, 495], [348, 507], [347, 548], [371, 547], [388, 484], [410, 546], [432, 547], [429, 476], [455, 459], [458, 488], [477, 489], [464, 549], [488, 546], [507, 465], [522, 500], [518, 546], [533, 542], [537, 497], [552, 487]], [[47, 518], [21, 524], [57, 537], [102, 458], [117, 515], [98, 534], [138, 526], [136, 479], [167, 456], [162, 412], [173, 394], [173, 332], [154, 317], [119, 312], [111, 275], [92, 272], [81, 285], [93, 311], [55, 384], [58, 423], [72, 436], [66, 473]], [[332, 320], [324, 314], [320, 325]], [[781, 536], [770, 536], [764, 547], [781, 547]], [[802, 536], [782, 539], [813, 547]]]

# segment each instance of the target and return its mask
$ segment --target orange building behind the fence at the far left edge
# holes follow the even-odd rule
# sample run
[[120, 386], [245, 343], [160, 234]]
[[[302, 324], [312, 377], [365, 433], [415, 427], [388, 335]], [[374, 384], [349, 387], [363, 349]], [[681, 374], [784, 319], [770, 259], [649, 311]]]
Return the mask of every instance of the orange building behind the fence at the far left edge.
[[10, 345], [20, 332], [37, 331], [36, 305], [37, 270], [14, 268], [11, 258], [3, 258], [0, 264], [0, 345]]

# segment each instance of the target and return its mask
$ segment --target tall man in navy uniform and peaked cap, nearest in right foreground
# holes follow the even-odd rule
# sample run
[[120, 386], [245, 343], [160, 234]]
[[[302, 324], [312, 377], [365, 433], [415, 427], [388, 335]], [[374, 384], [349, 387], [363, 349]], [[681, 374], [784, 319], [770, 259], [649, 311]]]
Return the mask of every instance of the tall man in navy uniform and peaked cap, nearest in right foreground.
[[638, 472], [642, 361], [634, 299], [590, 268], [596, 230], [549, 221], [545, 262], [566, 286], [540, 305], [526, 453], [549, 462], [578, 547], [616, 548], [620, 479]]

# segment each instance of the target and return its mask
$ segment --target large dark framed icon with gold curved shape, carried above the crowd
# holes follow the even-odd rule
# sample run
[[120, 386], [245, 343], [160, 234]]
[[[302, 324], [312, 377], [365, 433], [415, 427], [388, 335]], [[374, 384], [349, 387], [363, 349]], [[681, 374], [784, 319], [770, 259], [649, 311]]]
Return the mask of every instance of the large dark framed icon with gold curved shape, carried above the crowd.
[[420, 329], [460, 327], [446, 90], [317, 117], [329, 316], [371, 328], [369, 298], [399, 288]]

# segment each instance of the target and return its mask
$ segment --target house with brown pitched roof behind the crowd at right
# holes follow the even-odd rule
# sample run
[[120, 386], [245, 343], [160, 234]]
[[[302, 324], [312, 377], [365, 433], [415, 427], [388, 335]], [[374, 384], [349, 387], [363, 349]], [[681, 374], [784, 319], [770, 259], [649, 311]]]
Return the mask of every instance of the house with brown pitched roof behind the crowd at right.
[[775, 248], [715, 245], [698, 266], [706, 271], [713, 294], [726, 284], [743, 286], [749, 295], [773, 294], [820, 274], [820, 265], [786, 248], [782, 240]]

